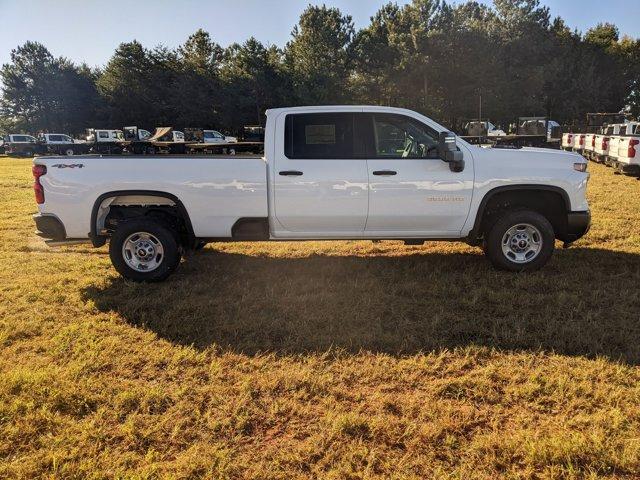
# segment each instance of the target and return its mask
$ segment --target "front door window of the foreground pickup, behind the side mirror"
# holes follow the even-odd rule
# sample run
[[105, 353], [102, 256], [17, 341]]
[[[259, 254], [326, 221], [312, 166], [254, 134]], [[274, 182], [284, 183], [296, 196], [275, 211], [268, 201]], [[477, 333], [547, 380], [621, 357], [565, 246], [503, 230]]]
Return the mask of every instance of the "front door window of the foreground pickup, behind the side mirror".
[[438, 133], [404, 115], [373, 115], [377, 158], [437, 158]]

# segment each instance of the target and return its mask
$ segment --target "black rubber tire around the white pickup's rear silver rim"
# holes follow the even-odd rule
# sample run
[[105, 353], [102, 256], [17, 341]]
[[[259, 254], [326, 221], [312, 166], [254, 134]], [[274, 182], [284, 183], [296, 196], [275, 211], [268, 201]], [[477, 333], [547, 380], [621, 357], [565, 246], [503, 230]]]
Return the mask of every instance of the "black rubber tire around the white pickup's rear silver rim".
[[[157, 248], [157, 241], [162, 248], [162, 254], [160, 257], [152, 257], [154, 258], [154, 261], [157, 261], [159, 264], [150, 271], [141, 271], [133, 268], [125, 258], [123, 248], [125, 242], [129, 237], [137, 233], [145, 233], [149, 235], [149, 238], [152, 239], [151, 243]], [[124, 278], [133, 280], [134, 282], [161, 282], [171, 275], [171, 273], [173, 273], [173, 271], [178, 267], [178, 264], [180, 263], [180, 249], [178, 247], [176, 235], [169, 228], [157, 221], [140, 218], [123, 223], [113, 233], [109, 243], [109, 257], [111, 258], [111, 263], [115, 269]], [[160, 258], [160, 260], [157, 260], [157, 258]], [[130, 260], [129, 262], [132, 261], [135, 262], [135, 259]]]

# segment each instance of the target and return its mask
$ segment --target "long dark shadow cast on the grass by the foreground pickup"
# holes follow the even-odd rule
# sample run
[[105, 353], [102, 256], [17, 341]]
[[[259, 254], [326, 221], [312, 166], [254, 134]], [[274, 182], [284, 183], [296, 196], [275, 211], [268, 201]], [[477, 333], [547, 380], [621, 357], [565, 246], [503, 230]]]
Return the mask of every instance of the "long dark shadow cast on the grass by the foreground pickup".
[[558, 251], [540, 272], [480, 254], [271, 258], [205, 250], [165, 283], [120, 278], [83, 292], [105, 312], [182, 345], [246, 354], [470, 344], [640, 363], [640, 255]]

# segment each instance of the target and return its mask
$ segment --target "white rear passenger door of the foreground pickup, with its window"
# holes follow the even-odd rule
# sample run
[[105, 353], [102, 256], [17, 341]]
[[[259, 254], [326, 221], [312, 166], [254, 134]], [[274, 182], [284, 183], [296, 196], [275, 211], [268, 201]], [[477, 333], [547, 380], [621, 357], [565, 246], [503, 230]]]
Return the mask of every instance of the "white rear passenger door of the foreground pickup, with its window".
[[[367, 160], [353, 112], [290, 113], [278, 121], [276, 235], [360, 237], [367, 219]], [[359, 137], [361, 138], [361, 137]]]

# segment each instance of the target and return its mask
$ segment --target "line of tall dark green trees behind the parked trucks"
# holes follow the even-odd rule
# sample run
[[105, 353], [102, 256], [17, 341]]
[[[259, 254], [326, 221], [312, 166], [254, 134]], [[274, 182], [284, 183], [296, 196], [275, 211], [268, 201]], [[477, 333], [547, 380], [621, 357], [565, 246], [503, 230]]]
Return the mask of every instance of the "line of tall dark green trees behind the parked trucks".
[[[357, 30], [309, 5], [284, 47], [255, 38], [223, 48], [198, 30], [176, 49], [122, 43], [101, 68], [26, 42], [0, 69], [0, 129], [79, 134], [87, 127], [262, 124], [267, 108], [378, 104], [449, 127], [546, 115], [640, 113], [640, 39], [611, 24], [582, 34], [538, 0], [389, 3]], [[480, 103], [480, 99], [481, 103]]]

